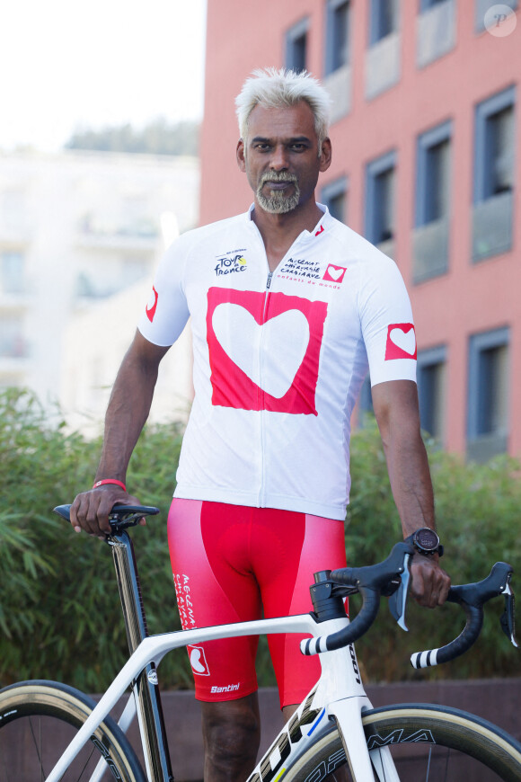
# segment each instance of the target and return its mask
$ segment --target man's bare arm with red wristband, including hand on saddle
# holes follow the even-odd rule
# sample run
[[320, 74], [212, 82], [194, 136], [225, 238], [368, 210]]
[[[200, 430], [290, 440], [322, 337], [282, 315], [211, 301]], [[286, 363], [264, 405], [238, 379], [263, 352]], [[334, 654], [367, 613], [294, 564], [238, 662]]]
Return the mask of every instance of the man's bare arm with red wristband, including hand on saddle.
[[[137, 332], [119, 368], [105, 416], [102, 458], [95, 481], [115, 478], [126, 483], [127, 467], [145, 425], [159, 363], [168, 347], [148, 342]], [[71, 524], [80, 531], [102, 537], [110, 532], [109, 512], [116, 503], [132, 504], [135, 497], [115, 484], [78, 494], [71, 507]]]

